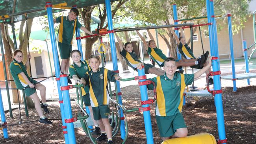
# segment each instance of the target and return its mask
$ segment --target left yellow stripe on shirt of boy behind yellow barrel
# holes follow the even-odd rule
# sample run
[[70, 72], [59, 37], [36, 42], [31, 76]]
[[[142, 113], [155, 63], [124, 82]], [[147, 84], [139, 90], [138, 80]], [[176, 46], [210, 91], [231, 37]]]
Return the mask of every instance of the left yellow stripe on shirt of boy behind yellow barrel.
[[156, 77], [157, 80], [157, 85], [156, 85], [156, 93], [157, 93], [157, 107], [159, 109], [159, 113], [161, 116], [166, 116], [165, 112], [165, 97], [163, 95], [163, 90], [162, 90], [162, 85], [161, 85], [161, 80], [160, 76]]

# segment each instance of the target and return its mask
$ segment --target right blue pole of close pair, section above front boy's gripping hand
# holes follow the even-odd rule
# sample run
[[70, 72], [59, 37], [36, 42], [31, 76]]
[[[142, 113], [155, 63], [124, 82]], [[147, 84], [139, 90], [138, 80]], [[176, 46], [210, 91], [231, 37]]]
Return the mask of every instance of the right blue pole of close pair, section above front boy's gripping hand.
[[212, 22], [212, 32], [213, 32], [213, 44], [214, 44], [214, 56], [219, 57], [219, 48], [218, 48], [218, 37], [217, 37], [217, 24], [214, 15], [214, 5], [213, 0], [210, 0], [210, 10], [211, 10], [211, 22]]

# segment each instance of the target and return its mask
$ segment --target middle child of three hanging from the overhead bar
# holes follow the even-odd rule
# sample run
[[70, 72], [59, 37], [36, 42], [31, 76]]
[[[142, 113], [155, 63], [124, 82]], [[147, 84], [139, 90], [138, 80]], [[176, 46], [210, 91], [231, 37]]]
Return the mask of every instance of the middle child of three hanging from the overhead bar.
[[[154, 37], [150, 33], [149, 30], [147, 30], [148, 35], [150, 37], [150, 41], [146, 42], [146, 39], [137, 31], [137, 34], [143, 41], [143, 44], [146, 48], [146, 51], [148, 52], [148, 55], [153, 59], [154, 62], [158, 64], [158, 66], [163, 67], [163, 61], [167, 59], [167, 56], [163, 54], [162, 50], [156, 46], [156, 42], [154, 41]], [[203, 67], [204, 65], [204, 55], [202, 55], [198, 59], [177, 59], [176, 64], [177, 67], [180, 66], [195, 66], [198, 65], [199, 67]]]

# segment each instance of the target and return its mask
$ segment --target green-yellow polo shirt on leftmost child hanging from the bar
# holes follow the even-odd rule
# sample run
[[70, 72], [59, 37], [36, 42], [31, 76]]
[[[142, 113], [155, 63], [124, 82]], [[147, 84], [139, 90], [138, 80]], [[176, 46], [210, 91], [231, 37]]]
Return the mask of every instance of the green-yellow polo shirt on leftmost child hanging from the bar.
[[120, 54], [124, 57], [124, 59], [126, 60], [128, 66], [130, 66], [134, 70], [136, 70], [136, 67], [137, 67], [138, 63], [142, 63], [139, 60], [138, 56], [135, 54], [134, 51], [127, 52], [126, 50], [122, 49]]

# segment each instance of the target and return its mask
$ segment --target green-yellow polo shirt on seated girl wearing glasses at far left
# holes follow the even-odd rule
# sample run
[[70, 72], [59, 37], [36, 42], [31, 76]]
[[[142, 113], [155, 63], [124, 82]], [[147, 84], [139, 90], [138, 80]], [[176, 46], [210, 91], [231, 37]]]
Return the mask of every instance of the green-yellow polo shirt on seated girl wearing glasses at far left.
[[20, 74], [21, 72], [24, 72], [24, 74], [30, 80], [30, 77], [28, 76], [26, 67], [24, 66], [23, 62], [19, 63], [14, 59], [10, 64], [10, 71], [11, 71], [11, 76], [13, 76], [13, 80], [16, 84], [17, 89], [23, 89], [28, 85], [28, 83], [25, 81], [24, 78], [22, 78]]

